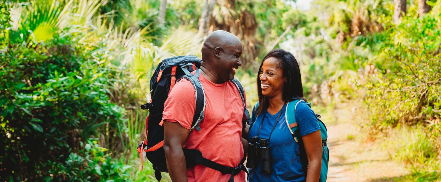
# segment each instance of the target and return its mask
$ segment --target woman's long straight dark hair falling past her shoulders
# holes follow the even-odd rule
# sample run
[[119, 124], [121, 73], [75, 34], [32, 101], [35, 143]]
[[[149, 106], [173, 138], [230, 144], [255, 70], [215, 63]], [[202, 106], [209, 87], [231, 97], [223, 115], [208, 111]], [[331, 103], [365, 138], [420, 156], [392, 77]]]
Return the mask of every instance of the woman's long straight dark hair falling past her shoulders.
[[[302, 76], [300, 75], [299, 63], [295, 60], [294, 56], [283, 49], [275, 49], [270, 51], [263, 58], [262, 63], [259, 67], [262, 69], [263, 62], [267, 58], [276, 58], [279, 62], [277, 63], [277, 67], [283, 70], [283, 76], [286, 78], [286, 81], [283, 86], [283, 99], [285, 102], [294, 101], [297, 99], [303, 99], [303, 86], [302, 86]], [[260, 74], [257, 76], [257, 91], [259, 96], [259, 106], [256, 110], [256, 115], [263, 113], [265, 109], [269, 106], [269, 99], [265, 95], [262, 95], [262, 89], [260, 88]]]

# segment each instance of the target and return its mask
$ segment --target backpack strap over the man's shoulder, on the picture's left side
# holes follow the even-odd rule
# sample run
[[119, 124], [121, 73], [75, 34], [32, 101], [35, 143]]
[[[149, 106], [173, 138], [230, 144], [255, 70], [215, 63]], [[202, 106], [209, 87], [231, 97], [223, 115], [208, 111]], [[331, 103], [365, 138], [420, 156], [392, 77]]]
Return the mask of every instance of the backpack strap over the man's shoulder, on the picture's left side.
[[188, 71], [186, 66], [193, 66], [193, 64], [188, 63], [187, 65], [180, 65], [185, 75], [181, 76], [179, 79], [187, 79], [190, 80], [191, 84], [193, 84], [194, 87], [194, 95], [196, 98], [196, 107], [194, 110], [194, 116], [193, 121], [191, 123], [190, 131], [193, 129], [196, 129], [197, 131], [201, 130], [201, 127], [199, 124], [204, 119], [204, 111], [205, 111], [205, 105], [206, 105], [206, 99], [205, 99], [205, 92], [202, 87], [201, 82], [198, 80], [199, 78], [199, 69], [196, 68], [196, 74], [193, 75]]

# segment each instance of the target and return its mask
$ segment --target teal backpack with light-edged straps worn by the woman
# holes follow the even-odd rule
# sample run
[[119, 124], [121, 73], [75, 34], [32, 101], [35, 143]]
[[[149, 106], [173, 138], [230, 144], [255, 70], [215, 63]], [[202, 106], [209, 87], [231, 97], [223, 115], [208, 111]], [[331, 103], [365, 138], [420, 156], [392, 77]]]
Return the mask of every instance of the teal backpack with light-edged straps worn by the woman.
[[[306, 176], [306, 172], [308, 171], [308, 158], [306, 157], [305, 147], [303, 146], [302, 137], [300, 136], [300, 129], [297, 126], [297, 121], [295, 120], [295, 109], [297, 104], [302, 102], [303, 100], [295, 100], [287, 103], [285, 109], [285, 120], [288, 128], [291, 132], [292, 137], [295, 142], [299, 143], [300, 149], [300, 162], [302, 163], [303, 171]], [[259, 105], [259, 102], [256, 103], [254, 109]], [[309, 106], [309, 105], [308, 105]], [[253, 111], [254, 111], [253, 109]], [[318, 125], [320, 126], [321, 132], [321, 146], [322, 146], [322, 157], [321, 157], [321, 173], [319, 182], [326, 182], [326, 178], [328, 175], [328, 163], [329, 163], [329, 149], [326, 146], [326, 140], [328, 140], [328, 132], [326, 130], [325, 124], [319, 119], [320, 115], [316, 114]]]

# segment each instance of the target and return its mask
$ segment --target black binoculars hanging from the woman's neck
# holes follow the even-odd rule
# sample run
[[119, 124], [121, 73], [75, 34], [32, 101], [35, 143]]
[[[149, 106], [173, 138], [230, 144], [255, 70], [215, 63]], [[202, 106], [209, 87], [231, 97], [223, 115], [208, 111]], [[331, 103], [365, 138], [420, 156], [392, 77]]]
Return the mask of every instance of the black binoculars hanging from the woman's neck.
[[248, 143], [247, 167], [255, 168], [258, 161], [262, 160], [262, 173], [270, 174], [273, 171], [271, 167], [271, 156], [269, 155], [269, 142], [266, 138], [254, 136]]

